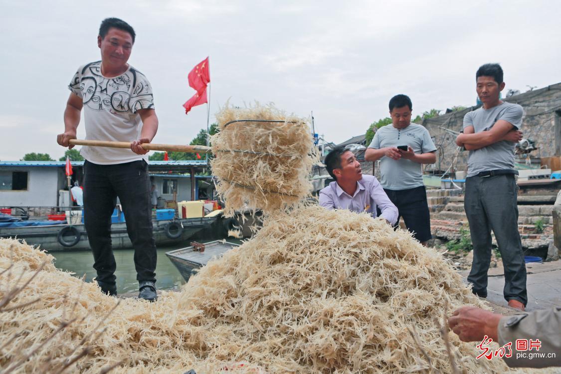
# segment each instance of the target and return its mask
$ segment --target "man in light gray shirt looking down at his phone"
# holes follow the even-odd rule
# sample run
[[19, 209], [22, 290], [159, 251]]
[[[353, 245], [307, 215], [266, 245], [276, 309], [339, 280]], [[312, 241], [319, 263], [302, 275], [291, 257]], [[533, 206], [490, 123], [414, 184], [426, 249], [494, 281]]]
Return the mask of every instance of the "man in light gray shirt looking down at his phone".
[[436, 147], [424, 126], [411, 123], [411, 110], [411, 99], [406, 95], [390, 100], [392, 124], [376, 131], [365, 159], [380, 159], [380, 184], [397, 206], [407, 230], [426, 245], [432, 235], [421, 164], [436, 162]]

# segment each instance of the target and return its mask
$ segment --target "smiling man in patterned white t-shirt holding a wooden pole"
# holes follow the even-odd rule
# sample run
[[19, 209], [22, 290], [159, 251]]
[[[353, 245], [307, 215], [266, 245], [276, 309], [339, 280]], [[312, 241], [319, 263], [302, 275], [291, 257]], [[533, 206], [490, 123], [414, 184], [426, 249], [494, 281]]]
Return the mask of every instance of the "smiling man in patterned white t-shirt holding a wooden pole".
[[80, 113], [86, 139], [130, 142], [130, 149], [82, 147], [84, 162], [84, 224], [94, 254], [96, 281], [104, 293], [117, 294], [115, 258], [111, 248], [111, 215], [121, 201], [128, 236], [135, 249], [139, 298], [154, 301], [156, 247], [151, 221], [148, 151], [158, 130], [151, 85], [127, 61], [135, 31], [117, 18], [103, 20], [98, 35], [102, 60], [80, 66], [68, 88], [65, 132], [58, 144], [72, 148]]

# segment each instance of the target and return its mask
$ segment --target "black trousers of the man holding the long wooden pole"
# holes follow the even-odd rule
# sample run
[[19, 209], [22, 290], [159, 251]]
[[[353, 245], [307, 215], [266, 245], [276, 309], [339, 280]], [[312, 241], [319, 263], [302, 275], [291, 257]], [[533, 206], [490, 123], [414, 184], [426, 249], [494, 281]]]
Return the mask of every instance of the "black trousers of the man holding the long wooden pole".
[[136, 279], [155, 282], [156, 245], [148, 164], [144, 160], [117, 165], [84, 162], [84, 225], [94, 254], [96, 280], [115, 284], [111, 215], [117, 197], [121, 200], [128, 237], [135, 249]]

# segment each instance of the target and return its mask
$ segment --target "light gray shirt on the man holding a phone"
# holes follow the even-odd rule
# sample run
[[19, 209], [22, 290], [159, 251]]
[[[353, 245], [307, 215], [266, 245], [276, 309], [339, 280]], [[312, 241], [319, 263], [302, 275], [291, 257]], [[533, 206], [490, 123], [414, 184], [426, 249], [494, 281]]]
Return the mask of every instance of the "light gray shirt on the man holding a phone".
[[[417, 124], [410, 124], [404, 129], [396, 129], [392, 124], [380, 127], [374, 134], [369, 148], [380, 149], [398, 145], [408, 145], [415, 153], [436, 150], [429, 131]], [[394, 160], [384, 156], [380, 159], [380, 184], [388, 190], [420, 187], [423, 185], [421, 164], [410, 159]]]

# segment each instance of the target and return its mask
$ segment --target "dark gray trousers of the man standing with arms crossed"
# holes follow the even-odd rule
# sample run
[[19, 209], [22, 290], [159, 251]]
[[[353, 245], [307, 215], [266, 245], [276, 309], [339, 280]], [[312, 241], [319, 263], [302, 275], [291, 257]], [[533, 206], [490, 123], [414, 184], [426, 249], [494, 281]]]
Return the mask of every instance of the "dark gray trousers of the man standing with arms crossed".
[[473, 284], [473, 293], [486, 297], [493, 230], [503, 259], [504, 298], [526, 305], [526, 265], [518, 233], [517, 189], [512, 174], [466, 179], [464, 207], [473, 243], [473, 262], [467, 280]]

